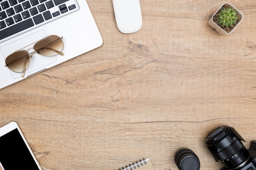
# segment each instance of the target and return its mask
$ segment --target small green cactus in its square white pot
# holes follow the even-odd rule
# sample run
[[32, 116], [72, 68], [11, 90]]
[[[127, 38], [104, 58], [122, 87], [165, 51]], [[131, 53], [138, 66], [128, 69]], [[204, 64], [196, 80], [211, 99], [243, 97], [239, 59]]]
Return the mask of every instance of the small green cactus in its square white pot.
[[243, 13], [226, 2], [214, 13], [208, 24], [220, 34], [230, 34], [243, 20]]

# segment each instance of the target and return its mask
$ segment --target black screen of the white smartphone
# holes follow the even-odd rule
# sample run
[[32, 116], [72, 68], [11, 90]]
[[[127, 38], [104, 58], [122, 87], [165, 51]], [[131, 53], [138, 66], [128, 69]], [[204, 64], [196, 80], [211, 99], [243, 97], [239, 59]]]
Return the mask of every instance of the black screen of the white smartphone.
[[4, 170], [39, 170], [17, 128], [0, 137], [0, 162]]

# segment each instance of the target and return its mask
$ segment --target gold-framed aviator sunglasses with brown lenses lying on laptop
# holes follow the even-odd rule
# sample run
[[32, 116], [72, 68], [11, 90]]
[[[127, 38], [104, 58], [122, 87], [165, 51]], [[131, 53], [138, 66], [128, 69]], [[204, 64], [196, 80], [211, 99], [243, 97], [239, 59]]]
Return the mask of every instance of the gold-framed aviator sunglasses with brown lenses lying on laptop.
[[64, 55], [64, 53], [62, 53], [64, 48], [62, 39], [63, 37], [57, 35], [49, 35], [37, 42], [33, 42], [32, 44], [34, 44], [34, 46], [30, 49], [34, 49], [34, 52], [29, 53], [30, 49], [15, 51], [6, 57], [5, 66], [13, 72], [22, 73], [21, 77], [24, 77], [25, 71], [29, 67], [30, 60], [34, 53], [46, 57], [53, 57], [58, 54]]

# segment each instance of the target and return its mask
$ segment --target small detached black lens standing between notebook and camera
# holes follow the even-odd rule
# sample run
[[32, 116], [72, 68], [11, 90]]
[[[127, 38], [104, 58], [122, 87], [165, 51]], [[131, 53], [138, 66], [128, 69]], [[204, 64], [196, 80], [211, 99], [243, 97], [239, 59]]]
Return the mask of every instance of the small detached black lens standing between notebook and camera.
[[199, 170], [200, 161], [190, 149], [180, 149], [175, 155], [175, 163], [179, 170]]

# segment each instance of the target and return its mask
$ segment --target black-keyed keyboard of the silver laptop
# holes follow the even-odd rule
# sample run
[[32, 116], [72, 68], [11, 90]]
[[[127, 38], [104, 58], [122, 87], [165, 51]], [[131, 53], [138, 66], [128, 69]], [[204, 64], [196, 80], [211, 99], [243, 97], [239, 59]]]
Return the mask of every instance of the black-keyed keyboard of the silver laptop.
[[0, 0], [0, 40], [77, 9], [76, 0]]

